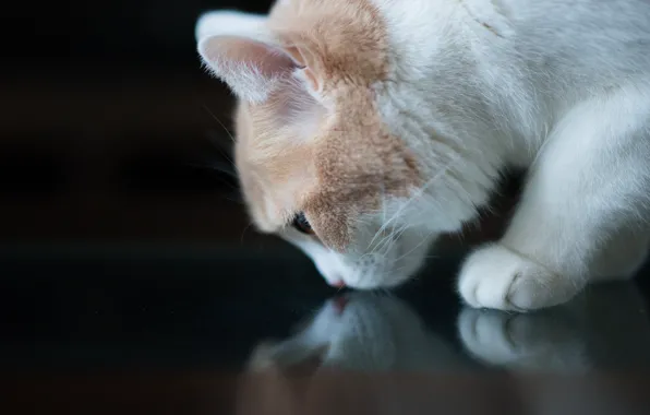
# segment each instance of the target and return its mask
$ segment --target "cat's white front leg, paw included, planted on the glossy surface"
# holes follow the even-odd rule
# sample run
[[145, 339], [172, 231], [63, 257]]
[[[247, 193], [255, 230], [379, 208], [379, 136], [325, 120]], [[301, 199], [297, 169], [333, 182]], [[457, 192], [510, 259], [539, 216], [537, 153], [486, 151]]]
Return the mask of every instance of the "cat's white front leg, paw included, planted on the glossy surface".
[[506, 234], [460, 271], [470, 306], [525, 311], [565, 303], [588, 283], [610, 237], [649, 217], [649, 97], [622, 91], [558, 123]]

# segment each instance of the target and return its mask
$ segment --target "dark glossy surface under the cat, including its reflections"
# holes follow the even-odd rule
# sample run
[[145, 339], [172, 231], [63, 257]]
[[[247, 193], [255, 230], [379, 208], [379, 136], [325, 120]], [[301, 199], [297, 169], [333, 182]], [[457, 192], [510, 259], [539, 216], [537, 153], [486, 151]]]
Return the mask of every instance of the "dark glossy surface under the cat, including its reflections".
[[462, 307], [453, 260], [395, 293], [338, 293], [282, 246], [47, 252], [0, 261], [1, 377], [22, 413], [640, 414], [650, 403], [645, 275], [515, 315]]

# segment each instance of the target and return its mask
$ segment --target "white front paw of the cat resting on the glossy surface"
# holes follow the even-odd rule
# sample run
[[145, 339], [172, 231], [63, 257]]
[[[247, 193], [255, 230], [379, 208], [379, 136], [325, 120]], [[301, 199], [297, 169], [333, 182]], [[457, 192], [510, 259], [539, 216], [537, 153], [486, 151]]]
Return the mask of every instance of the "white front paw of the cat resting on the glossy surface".
[[469, 256], [458, 280], [474, 308], [527, 311], [568, 301], [581, 287], [498, 244]]

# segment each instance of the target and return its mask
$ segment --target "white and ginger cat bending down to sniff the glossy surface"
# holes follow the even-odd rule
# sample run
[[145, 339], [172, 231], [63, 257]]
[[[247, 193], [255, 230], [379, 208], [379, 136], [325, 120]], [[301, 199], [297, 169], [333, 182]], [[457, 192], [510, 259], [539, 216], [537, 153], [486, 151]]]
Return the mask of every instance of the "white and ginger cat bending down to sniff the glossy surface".
[[238, 98], [258, 230], [333, 286], [395, 287], [522, 168], [505, 234], [468, 256], [457, 288], [527, 311], [645, 262], [648, 22], [643, 0], [281, 0], [206, 12], [195, 36]]

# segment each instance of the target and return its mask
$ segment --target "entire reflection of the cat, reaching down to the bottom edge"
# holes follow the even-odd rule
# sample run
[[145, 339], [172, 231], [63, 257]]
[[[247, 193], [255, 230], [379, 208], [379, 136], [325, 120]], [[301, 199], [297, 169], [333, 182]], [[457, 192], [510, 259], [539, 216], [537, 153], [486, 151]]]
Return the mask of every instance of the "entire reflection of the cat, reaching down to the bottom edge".
[[[648, 358], [646, 305], [631, 285], [593, 287], [530, 315], [468, 308], [457, 322], [467, 353], [398, 298], [329, 299], [289, 337], [255, 347], [238, 413], [502, 414], [511, 405], [535, 415], [642, 413], [629, 384], [591, 376], [598, 368], [638, 368]], [[481, 366], [514, 376], [474, 376]], [[359, 375], [368, 372], [374, 376]], [[405, 372], [434, 376], [395, 375]]]

